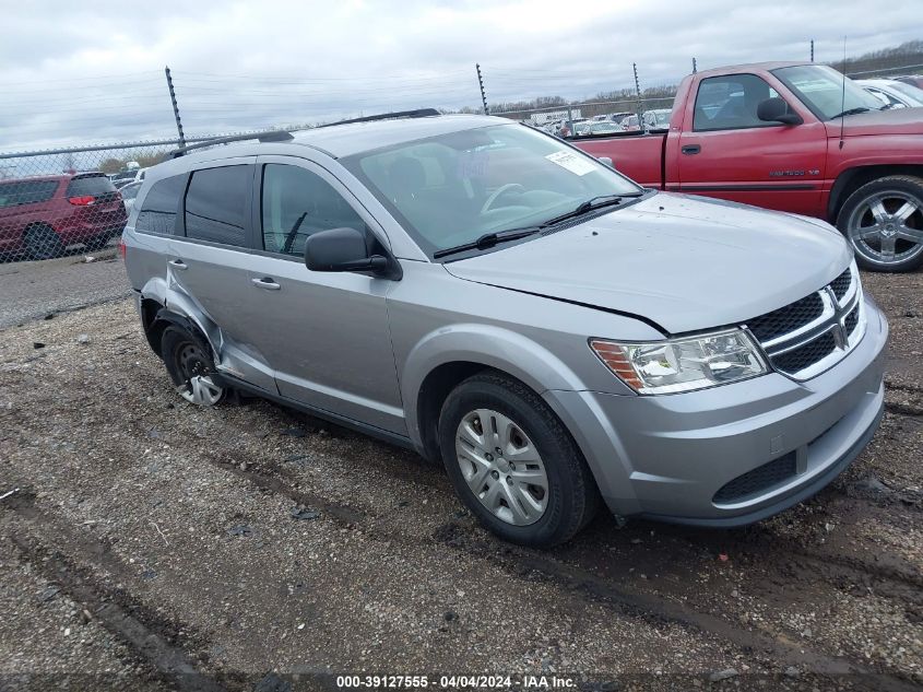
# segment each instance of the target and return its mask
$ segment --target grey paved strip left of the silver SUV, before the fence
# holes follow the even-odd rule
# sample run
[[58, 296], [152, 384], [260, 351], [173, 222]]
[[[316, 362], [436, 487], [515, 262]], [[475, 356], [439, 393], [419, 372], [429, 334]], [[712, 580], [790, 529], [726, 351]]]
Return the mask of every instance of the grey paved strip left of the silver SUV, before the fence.
[[0, 263], [0, 329], [131, 294], [114, 246], [88, 257], [94, 261], [78, 254], [40, 262]]

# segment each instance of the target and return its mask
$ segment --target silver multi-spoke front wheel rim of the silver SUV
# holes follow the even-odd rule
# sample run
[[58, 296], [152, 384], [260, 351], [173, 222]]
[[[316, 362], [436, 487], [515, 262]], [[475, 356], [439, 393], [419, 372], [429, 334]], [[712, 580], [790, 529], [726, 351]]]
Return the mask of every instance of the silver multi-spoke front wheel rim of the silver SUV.
[[502, 413], [477, 409], [455, 432], [459, 467], [474, 496], [498, 519], [528, 526], [548, 505], [548, 476], [535, 445]]

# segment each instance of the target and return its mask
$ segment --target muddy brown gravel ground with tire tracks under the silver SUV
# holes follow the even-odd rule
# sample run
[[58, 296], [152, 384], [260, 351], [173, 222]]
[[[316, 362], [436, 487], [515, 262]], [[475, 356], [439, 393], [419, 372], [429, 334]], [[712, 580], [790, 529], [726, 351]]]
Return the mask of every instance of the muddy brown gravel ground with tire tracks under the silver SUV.
[[481, 529], [411, 453], [185, 403], [130, 301], [5, 329], [0, 688], [919, 689], [923, 274], [865, 283], [891, 320], [887, 412], [829, 489], [737, 530], [601, 516], [546, 552]]

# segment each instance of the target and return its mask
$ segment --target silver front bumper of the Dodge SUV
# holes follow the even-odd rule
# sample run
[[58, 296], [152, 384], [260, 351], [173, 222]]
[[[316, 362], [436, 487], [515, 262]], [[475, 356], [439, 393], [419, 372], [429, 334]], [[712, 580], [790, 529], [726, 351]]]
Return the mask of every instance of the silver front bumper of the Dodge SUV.
[[[821, 490], [878, 426], [888, 326], [865, 301], [862, 341], [806, 382], [771, 373], [679, 395], [547, 391], [545, 400], [580, 445], [612, 512], [717, 527], [758, 521]], [[783, 458], [790, 473], [715, 499]]]

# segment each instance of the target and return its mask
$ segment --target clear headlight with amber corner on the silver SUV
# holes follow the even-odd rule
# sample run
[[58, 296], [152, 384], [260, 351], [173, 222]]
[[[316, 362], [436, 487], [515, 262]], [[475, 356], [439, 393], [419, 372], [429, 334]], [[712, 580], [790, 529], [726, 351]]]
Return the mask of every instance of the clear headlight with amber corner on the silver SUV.
[[591, 339], [590, 348], [638, 394], [674, 394], [726, 385], [766, 373], [766, 363], [739, 329], [647, 343]]

